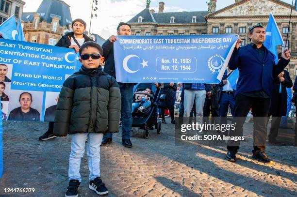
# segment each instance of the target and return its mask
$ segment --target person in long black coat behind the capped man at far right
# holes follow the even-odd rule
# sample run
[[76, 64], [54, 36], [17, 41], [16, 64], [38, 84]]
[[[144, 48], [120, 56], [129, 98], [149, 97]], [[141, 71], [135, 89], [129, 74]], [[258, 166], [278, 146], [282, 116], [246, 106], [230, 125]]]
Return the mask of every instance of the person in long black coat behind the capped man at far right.
[[293, 82], [288, 71], [282, 71], [273, 81], [273, 91], [271, 97], [271, 106], [268, 113], [268, 120], [272, 115], [270, 134], [268, 141], [274, 144], [280, 144], [276, 137], [279, 133], [281, 117], [287, 115], [287, 89], [292, 88]]

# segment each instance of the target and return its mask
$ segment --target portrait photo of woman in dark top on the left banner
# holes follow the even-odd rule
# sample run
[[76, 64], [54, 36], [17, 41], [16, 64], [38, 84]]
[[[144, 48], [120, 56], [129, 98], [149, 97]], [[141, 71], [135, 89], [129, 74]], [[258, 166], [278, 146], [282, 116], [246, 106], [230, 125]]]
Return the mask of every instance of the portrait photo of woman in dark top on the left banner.
[[8, 121], [40, 121], [42, 91], [11, 90]]

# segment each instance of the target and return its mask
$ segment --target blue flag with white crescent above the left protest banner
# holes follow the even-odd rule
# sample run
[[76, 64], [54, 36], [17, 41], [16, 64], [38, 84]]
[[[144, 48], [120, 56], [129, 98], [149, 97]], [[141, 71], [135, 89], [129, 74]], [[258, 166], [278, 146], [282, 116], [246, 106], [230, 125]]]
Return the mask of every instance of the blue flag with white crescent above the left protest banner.
[[15, 15], [10, 16], [0, 25], [2, 37], [9, 40], [18, 40]]

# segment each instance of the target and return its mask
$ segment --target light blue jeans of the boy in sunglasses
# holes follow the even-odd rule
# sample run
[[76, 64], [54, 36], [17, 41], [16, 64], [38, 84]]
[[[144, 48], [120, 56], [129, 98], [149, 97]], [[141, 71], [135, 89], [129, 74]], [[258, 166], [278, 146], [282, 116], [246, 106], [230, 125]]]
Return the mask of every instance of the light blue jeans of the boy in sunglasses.
[[100, 176], [100, 144], [103, 134], [83, 133], [73, 134], [71, 136], [71, 152], [68, 170], [69, 180], [76, 179], [79, 180], [79, 182], [82, 182], [80, 167], [86, 139], [88, 139], [87, 155], [90, 170], [89, 180], [94, 180], [96, 177]]

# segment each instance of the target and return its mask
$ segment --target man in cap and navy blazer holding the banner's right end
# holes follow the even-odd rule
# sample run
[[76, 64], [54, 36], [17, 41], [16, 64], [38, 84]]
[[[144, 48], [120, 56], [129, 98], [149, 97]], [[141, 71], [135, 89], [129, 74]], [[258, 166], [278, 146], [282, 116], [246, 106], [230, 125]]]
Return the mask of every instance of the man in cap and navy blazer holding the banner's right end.
[[[265, 29], [262, 24], [256, 24], [249, 30], [250, 44], [240, 46], [241, 39], [237, 40], [232, 53], [229, 68], [238, 68], [239, 77], [235, 92], [234, 119], [235, 130], [230, 130], [229, 137], [242, 136], [242, 129], [249, 109], [254, 116], [254, 150], [253, 158], [263, 162], [270, 162], [265, 153], [265, 139], [267, 136], [267, 115], [270, 109], [273, 91], [273, 79], [288, 65], [291, 55], [288, 50], [282, 51], [281, 59], [275, 64], [274, 55], [263, 45]], [[236, 152], [240, 140], [228, 141], [227, 159], [236, 161]]]

